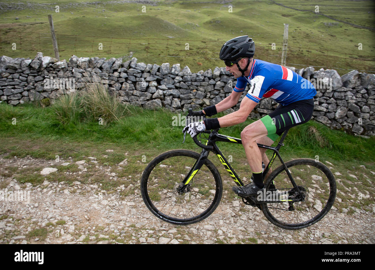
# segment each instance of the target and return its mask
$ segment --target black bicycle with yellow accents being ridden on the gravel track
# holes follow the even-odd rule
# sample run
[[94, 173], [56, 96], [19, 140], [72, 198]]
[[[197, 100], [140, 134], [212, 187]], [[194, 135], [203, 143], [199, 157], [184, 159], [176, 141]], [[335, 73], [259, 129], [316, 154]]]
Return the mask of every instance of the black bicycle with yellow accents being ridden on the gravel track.
[[[188, 117], [192, 115], [189, 110]], [[209, 152], [222, 163], [233, 181], [244, 185], [216, 142], [242, 144], [241, 139], [204, 131], [193, 137], [202, 148], [170, 150], [155, 157], [145, 168], [141, 194], [147, 208], [158, 218], [172, 224], [192, 224], [204, 220], [219, 205], [222, 179], [216, 166], [208, 159]], [[209, 134], [208, 138], [207, 135]], [[284, 131], [276, 147], [258, 144], [273, 151], [263, 171], [269, 172], [275, 157], [281, 162], [264, 180], [265, 192], [242, 198], [243, 203], [261, 209], [272, 224], [286, 229], [300, 229], [320, 221], [331, 209], [336, 197], [336, 181], [326, 165], [314, 159], [292, 159], [284, 162], [279, 150], [288, 134]], [[186, 134], [185, 134], [186, 135]], [[184, 138], [185, 138], [184, 135]], [[206, 140], [203, 144], [202, 141]]]

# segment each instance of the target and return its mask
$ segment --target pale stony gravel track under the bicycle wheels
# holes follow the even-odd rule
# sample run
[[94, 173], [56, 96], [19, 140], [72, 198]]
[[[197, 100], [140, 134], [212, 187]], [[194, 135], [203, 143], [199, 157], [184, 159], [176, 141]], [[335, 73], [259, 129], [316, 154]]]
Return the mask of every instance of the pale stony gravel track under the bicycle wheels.
[[[0, 169], [24, 168], [36, 161], [51, 163], [0, 159]], [[86, 165], [81, 162], [81, 171], [75, 173], [85, 173]], [[223, 198], [204, 221], [172, 225], [148, 211], [139, 191], [140, 175], [132, 179], [134, 194], [120, 196], [130, 187], [120, 185], [108, 194], [100, 185], [79, 181], [73, 185], [44, 181], [33, 186], [2, 177], [0, 190], [29, 192], [30, 202], [0, 201], [0, 243], [375, 243], [374, 208], [341, 213], [337, 200], [323, 220], [295, 231], [274, 226], [258, 208], [244, 205], [239, 198]]]

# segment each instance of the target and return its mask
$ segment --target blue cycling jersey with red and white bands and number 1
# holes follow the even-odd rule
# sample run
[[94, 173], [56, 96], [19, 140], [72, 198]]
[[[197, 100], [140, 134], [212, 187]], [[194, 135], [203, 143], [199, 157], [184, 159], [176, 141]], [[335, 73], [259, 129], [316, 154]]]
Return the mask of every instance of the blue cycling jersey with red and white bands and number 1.
[[259, 102], [262, 97], [272, 98], [285, 106], [299, 100], [311, 99], [317, 94], [309, 80], [282, 65], [254, 59], [248, 77], [237, 79], [235, 92], [243, 92], [247, 83], [251, 87], [246, 94], [252, 101]]

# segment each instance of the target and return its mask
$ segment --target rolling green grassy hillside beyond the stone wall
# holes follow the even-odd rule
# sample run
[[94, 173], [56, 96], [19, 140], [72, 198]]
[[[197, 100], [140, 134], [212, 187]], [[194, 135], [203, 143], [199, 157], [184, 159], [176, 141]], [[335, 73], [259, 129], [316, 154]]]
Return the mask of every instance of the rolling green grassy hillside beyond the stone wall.
[[47, 17], [52, 14], [61, 59], [133, 52], [138, 61], [180, 63], [197, 72], [222, 66], [217, 58], [223, 42], [245, 34], [255, 40], [256, 58], [279, 63], [289, 24], [287, 65], [375, 72], [375, 32], [358, 28], [374, 28], [374, 1], [279, 1], [2, 1], [0, 55], [54, 56]]

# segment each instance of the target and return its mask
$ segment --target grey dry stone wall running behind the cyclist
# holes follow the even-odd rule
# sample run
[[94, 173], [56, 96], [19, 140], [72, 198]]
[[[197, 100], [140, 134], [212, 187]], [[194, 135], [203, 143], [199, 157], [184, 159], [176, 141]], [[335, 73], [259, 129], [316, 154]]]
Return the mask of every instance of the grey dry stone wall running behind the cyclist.
[[[354, 70], [339, 76], [336, 70], [288, 67], [317, 88], [313, 118], [332, 129], [375, 135], [375, 74]], [[105, 85], [120, 102], [148, 109], [198, 110], [230, 95], [236, 79], [224, 67], [192, 73], [189, 67], [169, 63], [145, 64], [136, 58], [88, 58], [73, 55], [69, 61], [43, 56], [34, 59], [0, 58], [0, 99], [12, 105], [80, 91], [89, 83]], [[246, 87], [240, 101], [245, 96]], [[259, 119], [278, 104], [264, 98], [250, 117]], [[238, 110], [240, 102], [228, 112]]]

